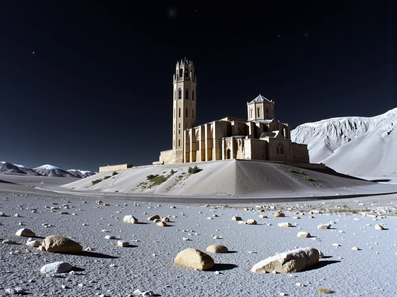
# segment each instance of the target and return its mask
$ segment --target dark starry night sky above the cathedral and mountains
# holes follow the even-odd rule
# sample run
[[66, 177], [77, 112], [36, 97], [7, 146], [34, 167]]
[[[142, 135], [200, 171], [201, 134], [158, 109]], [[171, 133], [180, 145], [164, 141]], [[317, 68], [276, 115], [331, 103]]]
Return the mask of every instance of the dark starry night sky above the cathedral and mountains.
[[397, 107], [393, 1], [274, 2], [1, 1], [0, 161], [151, 164], [184, 57], [197, 124], [247, 118], [259, 93], [292, 128]]

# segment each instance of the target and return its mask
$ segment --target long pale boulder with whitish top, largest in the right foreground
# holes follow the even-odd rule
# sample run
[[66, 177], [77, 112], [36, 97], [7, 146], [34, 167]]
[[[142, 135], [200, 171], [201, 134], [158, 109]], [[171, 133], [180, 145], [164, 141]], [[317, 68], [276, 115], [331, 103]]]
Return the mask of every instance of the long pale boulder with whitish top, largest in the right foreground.
[[272, 257], [268, 257], [252, 268], [251, 272], [266, 273], [276, 271], [278, 273], [299, 272], [305, 268], [318, 263], [320, 253], [313, 247], [303, 247], [293, 249], [285, 253], [280, 253]]

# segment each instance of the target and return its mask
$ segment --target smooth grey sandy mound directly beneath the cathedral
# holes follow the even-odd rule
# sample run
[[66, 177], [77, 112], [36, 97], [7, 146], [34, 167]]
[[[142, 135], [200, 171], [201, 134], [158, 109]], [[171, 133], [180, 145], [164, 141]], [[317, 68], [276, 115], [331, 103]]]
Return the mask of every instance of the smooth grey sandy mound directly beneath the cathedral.
[[[99, 191], [129, 194], [157, 194], [176, 196], [266, 196], [272, 194], [324, 193], [334, 188], [359, 187], [374, 183], [343, 175], [283, 166], [269, 162], [224, 160], [197, 163], [202, 171], [189, 175], [191, 164], [163, 165], [119, 171], [118, 175], [92, 185], [92, 181], [111, 173], [99, 173], [73, 183], [62, 185], [64, 190]], [[149, 174], [168, 175], [177, 171], [167, 181], [156, 187], [143, 188]], [[288, 170], [292, 169], [293, 172]], [[163, 173], [165, 172], [165, 173]], [[326, 171], [325, 171], [326, 172]], [[330, 172], [330, 171], [328, 171]], [[183, 174], [185, 173], [185, 174]], [[310, 176], [312, 180], [305, 180]], [[310, 194], [309, 194], [310, 196]]]

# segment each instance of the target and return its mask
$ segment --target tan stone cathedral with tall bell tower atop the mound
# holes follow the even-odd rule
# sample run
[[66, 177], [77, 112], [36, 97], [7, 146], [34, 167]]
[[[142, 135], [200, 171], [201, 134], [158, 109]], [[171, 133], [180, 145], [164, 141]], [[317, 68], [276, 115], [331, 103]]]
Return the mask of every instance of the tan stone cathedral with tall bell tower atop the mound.
[[173, 74], [172, 150], [153, 164], [243, 159], [309, 163], [307, 145], [291, 141], [290, 125], [276, 120], [274, 101], [247, 102], [247, 120], [226, 117], [196, 126], [197, 80], [193, 62], [176, 63]]

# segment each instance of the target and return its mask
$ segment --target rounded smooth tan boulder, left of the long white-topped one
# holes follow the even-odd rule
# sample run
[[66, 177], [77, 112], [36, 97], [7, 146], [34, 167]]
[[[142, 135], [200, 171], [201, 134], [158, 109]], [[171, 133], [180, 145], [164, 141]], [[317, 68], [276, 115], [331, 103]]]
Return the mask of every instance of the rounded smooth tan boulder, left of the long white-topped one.
[[207, 270], [214, 267], [214, 259], [198, 249], [188, 248], [180, 251], [174, 260], [175, 264], [198, 270]]

